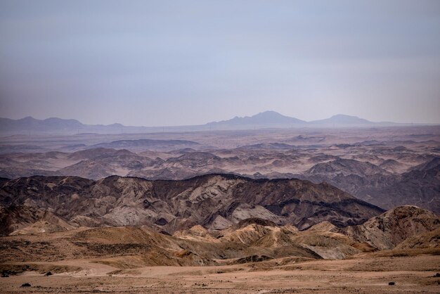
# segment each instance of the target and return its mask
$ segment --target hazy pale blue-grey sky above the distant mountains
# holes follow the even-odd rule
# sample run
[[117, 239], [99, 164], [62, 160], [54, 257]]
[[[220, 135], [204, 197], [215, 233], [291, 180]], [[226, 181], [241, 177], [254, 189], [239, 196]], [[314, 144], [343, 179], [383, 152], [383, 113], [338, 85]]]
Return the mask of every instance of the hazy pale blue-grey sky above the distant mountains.
[[0, 0], [0, 117], [440, 123], [438, 0]]

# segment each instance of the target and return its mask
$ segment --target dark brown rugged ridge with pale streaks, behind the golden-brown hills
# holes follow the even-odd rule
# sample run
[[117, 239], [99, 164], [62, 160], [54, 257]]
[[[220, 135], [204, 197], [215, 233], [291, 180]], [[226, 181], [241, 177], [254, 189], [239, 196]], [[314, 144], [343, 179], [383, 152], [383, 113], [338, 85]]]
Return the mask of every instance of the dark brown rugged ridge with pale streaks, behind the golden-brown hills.
[[182, 181], [108, 177], [30, 177], [6, 181], [5, 207], [49, 210], [77, 225], [154, 225], [173, 233], [200, 224], [224, 229], [259, 217], [306, 229], [328, 220], [336, 226], [362, 224], [383, 210], [328, 184], [299, 179], [247, 179], [209, 174]]

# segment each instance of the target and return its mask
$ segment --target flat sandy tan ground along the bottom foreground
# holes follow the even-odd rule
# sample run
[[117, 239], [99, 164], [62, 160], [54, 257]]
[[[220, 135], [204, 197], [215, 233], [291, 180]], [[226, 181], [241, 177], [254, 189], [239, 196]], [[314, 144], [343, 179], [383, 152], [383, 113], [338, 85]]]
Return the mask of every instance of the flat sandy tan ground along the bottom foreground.
[[[25, 265], [25, 263], [20, 263]], [[439, 255], [318, 260], [283, 267], [117, 269], [93, 260], [30, 262], [41, 268], [80, 268], [52, 276], [41, 271], [0, 278], [1, 293], [440, 293]], [[394, 286], [389, 282], [394, 281]], [[30, 287], [22, 287], [30, 283]]]

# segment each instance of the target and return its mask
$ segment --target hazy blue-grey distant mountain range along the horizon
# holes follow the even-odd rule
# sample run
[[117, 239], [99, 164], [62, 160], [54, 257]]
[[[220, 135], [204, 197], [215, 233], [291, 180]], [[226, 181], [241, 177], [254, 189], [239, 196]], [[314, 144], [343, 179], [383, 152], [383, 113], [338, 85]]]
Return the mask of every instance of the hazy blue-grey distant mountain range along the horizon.
[[266, 111], [250, 117], [234, 117], [231, 120], [209, 122], [202, 125], [179, 127], [127, 127], [122, 124], [82, 124], [78, 120], [64, 120], [51, 117], [46, 120], [37, 120], [33, 117], [24, 117], [20, 120], [0, 118], [0, 134], [117, 134], [141, 132], [188, 132], [213, 129], [266, 129], [291, 127], [385, 127], [405, 125], [394, 122], [370, 122], [363, 118], [350, 115], [334, 115], [325, 120], [306, 122], [295, 117], [288, 117]]

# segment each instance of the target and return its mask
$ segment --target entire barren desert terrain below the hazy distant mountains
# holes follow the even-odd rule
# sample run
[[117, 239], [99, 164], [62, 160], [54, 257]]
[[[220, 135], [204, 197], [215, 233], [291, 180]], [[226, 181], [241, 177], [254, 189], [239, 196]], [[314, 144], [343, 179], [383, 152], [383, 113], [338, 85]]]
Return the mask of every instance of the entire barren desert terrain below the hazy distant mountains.
[[440, 293], [439, 142], [438, 126], [4, 136], [0, 292]]

